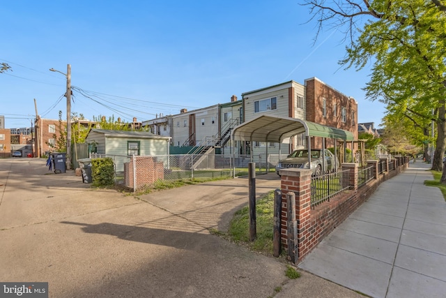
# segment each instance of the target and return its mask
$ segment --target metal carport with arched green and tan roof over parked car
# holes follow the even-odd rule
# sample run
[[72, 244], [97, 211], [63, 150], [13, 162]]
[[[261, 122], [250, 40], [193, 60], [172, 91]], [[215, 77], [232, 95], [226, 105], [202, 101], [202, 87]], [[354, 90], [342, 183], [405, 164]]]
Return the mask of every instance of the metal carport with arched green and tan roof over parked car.
[[[334, 154], [336, 155], [337, 140], [344, 141], [344, 150], [346, 149], [346, 142], [351, 142], [352, 146], [352, 160], [353, 160], [353, 133], [344, 131], [339, 128], [324, 126], [316, 124], [311, 121], [295, 119], [290, 117], [273, 117], [260, 116], [233, 128], [231, 133], [232, 140], [244, 142], [275, 142], [280, 146], [283, 140], [294, 137], [300, 133], [305, 133], [307, 137], [307, 149], [311, 150], [311, 137], [323, 137], [323, 148], [325, 149], [325, 138], [334, 139]], [[252, 146], [251, 146], [252, 148]], [[235, 151], [235, 150], [234, 150]], [[266, 146], [266, 156], [268, 156], [268, 146]], [[345, 152], [344, 152], [345, 156]], [[235, 158], [235, 153], [233, 154]], [[252, 161], [252, 150], [251, 150]], [[311, 166], [311, 156], [308, 157], [309, 165]], [[234, 163], [235, 165], [235, 163]], [[337, 167], [337, 165], [336, 165]], [[268, 170], [268, 163], [267, 163]], [[323, 169], [325, 172], [325, 169]], [[234, 169], [235, 172], [235, 169]]]

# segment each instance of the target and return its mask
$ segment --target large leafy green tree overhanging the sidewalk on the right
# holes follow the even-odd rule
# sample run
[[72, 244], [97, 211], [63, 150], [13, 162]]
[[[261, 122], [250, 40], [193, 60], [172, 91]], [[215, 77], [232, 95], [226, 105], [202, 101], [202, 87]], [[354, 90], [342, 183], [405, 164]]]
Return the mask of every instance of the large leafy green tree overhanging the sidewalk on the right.
[[[432, 169], [442, 170], [446, 147], [444, 0], [308, 0], [305, 5], [312, 18], [318, 17], [319, 30], [323, 24], [344, 29], [348, 45], [340, 64], [359, 70], [373, 61], [371, 79], [364, 88], [367, 98], [400, 107], [411, 103], [414, 114], [435, 121]], [[367, 17], [365, 22], [363, 17]], [[426, 113], [426, 107], [433, 109], [433, 115]]]

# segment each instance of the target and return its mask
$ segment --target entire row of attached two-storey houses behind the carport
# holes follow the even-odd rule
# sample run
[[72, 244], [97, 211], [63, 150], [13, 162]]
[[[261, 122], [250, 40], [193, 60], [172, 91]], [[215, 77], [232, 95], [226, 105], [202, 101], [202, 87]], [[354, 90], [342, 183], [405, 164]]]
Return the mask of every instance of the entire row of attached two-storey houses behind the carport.
[[[238, 100], [232, 96], [229, 103], [203, 107], [198, 110], [183, 109], [180, 114], [157, 117], [143, 122], [151, 133], [171, 137], [174, 147], [212, 146], [222, 154], [263, 154], [268, 146], [270, 154], [307, 146], [301, 134], [279, 148], [279, 144], [230, 140], [232, 128], [263, 114], [274, 117], [291, 117], [316, 122], [325, 126], [351, 131], [357, 140], [357, 102], [325, 84], [316, 77], [300, 84], [293, 80], [270, 87], [248, 91]], [[312, 147], [322, 147], [321, 138], [312, 138]], [[252, 146], [252, 148], [251, 148]], [[325, 147], [334, 146], [334, 140], [325, 140]], [[234, 152], [235, 151], [235, 152]]]

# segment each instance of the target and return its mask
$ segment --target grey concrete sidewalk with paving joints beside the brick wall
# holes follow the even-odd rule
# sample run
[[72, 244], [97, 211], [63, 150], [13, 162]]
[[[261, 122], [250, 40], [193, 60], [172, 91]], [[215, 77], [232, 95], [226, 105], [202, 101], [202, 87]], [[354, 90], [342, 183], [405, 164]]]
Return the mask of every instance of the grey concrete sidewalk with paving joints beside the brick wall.
[[424, 186], [429, 167], [381, 184], [298, 267], [371, 297], [445, 297], [446, 203]]

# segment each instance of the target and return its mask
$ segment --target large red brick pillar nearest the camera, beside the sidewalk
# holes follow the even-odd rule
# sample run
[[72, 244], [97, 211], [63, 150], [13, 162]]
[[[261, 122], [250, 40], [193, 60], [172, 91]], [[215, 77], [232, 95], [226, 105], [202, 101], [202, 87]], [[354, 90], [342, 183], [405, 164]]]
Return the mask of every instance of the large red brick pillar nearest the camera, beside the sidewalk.
[[295, 193], [295, 217], [298, 223], [298, 253], [297, 259], [309, 251], [310, 236], [310, 218], [312, 210], [312, 171], [304, 169], [281, 170], [281, 190], [282, 190], [282, 221], [281, 238], [284, 248], [287, 245], [287, 227], [286, 227], [286, 193], [292, 191]]

